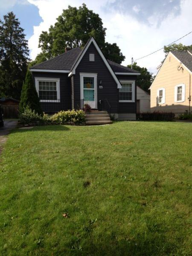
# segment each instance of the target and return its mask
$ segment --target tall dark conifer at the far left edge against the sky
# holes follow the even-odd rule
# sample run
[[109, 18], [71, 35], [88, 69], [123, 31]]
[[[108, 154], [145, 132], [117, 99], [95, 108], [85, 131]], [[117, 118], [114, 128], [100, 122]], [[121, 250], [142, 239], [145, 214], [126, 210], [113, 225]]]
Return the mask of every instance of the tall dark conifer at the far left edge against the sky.
[[27, 40], [13, 12], [0, 20], [0, 95], [20, 99], [25, 79], [29, 49]]

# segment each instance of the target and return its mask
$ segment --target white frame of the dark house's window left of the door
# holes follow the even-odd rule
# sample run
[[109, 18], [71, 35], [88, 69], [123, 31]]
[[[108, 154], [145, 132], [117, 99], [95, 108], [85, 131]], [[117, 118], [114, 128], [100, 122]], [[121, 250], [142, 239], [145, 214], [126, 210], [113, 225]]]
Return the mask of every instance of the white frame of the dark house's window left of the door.
[[59, 78], [48, 78], [48, 77], [35, 77], [35, 88], [39, 96], [39, 81], [50, 81], [56, 82], [57, 88], [57, 99], [40, 99], [40, 102], [60, 102], [60, 79]]

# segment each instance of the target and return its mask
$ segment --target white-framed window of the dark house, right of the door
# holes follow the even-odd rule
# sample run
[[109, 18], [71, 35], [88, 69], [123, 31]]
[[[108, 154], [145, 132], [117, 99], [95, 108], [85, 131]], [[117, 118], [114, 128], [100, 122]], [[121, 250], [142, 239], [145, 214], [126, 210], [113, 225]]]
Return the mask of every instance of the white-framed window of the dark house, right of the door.
[[135, 81], [120, 81], [119, 102], [135, 102]]

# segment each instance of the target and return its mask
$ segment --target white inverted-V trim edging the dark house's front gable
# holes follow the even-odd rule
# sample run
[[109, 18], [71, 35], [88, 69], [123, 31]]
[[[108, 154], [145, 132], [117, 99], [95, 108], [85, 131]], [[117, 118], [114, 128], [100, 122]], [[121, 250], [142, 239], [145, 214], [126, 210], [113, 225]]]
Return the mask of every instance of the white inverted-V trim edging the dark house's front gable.
[[119, 79], [116, 77], [116, 75], [115, 75], [115, 73], [113, 72], [111, 66], [109, 65], [108, 61], [106, 60], [105, 56], [103, 55], [102, 51], [100, 50], [99, 46], [97, 45], [97, 43], [96, 43], [96, 41], [95, 41], [95, 39], [94, 39], [93, 37], [90, 39], [90, 41], [88, 42], [88, 44], [86, 45], [86, 47], [83, 49], [83, 52], [81, 53], [80, 58], [79, 58], [78, 61], [76, 62], [75, 66], [73, 67], [73, 70], [71, 70], [69, 76], [75, 75], [75, 73], [76, 73], [76, 67], [79, 65], [81, 59], [83, 58], [85, 52], [87, 51], [87, 49], [89, 48], [89, 46], [90, 46], [91, 43], [93, 43], [94, 46], [96, 47], [96, 49], [97, 49], [99, 55], [101, 56], [103, 62], [104, 62], [105, 65], [107, 66], [107, 68], [108, 68], [109, 72], [111, 73], [111, 75], [113, 76], [113, 79], [116, 81], [117, 88], [118, 88], [118, 89], [119, 89], [119, 88], [122, 88], [122, 86], [121, 86], [121, 84], [120, 84], [120, 82], [119, 82]]

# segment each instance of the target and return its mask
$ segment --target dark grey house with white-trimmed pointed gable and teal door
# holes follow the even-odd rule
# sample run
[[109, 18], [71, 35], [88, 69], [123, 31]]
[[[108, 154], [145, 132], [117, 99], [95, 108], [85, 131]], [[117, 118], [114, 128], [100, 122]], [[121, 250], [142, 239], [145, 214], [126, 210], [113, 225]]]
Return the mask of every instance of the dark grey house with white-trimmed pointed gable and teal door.
[[108, 61], [93, 37], [83, 49], [66, 49], [30, 70], [45, 113], [82, 109], [87, 103], [119, 120], [136, 119], [140, 73]]

